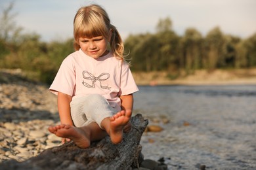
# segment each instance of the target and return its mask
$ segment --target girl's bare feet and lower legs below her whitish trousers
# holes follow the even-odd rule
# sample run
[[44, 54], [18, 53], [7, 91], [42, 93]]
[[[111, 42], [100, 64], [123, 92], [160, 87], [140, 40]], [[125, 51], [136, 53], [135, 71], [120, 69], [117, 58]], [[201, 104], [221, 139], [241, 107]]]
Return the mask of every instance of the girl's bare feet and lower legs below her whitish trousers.
[[123, 127], [129, 122], [131, 118], [131, 110], [121, 110], [112, 117], [104, 118], [101, 122], [103, 129], [96, 124], [91, 124], [83, 127], [74, 127], [66, 124], [58, 126], [50, 126], [48, 129], [58, 137], [72, 139], [80, 148], [88, 148], [91, 141], [98, 141], [106, 135], [110, 135], [112, 143], [120, 143], [123, 139]]

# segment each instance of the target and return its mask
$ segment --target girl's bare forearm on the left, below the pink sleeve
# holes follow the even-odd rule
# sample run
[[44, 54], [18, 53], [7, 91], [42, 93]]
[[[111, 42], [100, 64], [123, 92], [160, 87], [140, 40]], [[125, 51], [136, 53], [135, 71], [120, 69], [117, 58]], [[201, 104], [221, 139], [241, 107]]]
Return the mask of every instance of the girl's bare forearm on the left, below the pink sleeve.
[[71, 113], [70, 113], [70, 102], [72, 96], [65, 93], [58, 92], [58, 114], [60, 115], [61, 124], [69, 124], [73, 126]]

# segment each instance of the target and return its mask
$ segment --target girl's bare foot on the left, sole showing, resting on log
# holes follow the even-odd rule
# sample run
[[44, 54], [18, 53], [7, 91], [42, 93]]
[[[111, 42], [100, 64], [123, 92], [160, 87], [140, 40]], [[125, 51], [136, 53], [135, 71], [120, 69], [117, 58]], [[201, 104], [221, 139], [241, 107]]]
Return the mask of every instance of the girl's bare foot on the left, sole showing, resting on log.
[[57, 126], [50, 126], [49, 131], [58, 137], [72, 139], [80, 148], [88, 148], [91, 144], [89, 131], [83, 131], [78, 127], [67, 124], [60, 124]]

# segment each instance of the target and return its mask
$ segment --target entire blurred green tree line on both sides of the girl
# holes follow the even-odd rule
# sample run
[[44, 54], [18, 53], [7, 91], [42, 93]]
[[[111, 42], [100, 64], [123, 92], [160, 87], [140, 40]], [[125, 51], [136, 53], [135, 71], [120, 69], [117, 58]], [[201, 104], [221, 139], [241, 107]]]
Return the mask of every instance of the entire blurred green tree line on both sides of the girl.
[[[37, 33], [23, 33], [12, 14], [13, 3], [0, 18], [0, 68], [22, 69], [27, 76], [51, 83], [64, 58], [74, 52], [73, 39], [41, 41]], [[129, 35], [125, 53], [132, 71], [167, 71], [171, 78], [181, 71], [256, 67], [256, 33], [247, 39], [225, 35], [219, 27], [205, 37], [194, 29], [179, 36], [169, 17], [160, 19], [156, 33]]]

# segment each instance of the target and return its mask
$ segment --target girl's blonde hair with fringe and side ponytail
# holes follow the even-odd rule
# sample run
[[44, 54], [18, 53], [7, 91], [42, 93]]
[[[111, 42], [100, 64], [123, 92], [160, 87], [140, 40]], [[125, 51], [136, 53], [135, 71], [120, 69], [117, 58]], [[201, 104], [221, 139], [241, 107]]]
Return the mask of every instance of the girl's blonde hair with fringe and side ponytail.
[[112, 31], [110, 39], [110, 48], [117, 59], [123, 60], [123, 41], [116, 27], [110, 24], [110, 18], [106, 10], [99, 5], [89, 5], [81, 7], [74, 18], [74, 48], [79, 50], [80, 37], [98, 37], [103, 36], [108, 39]]

